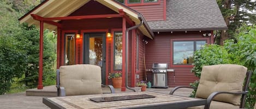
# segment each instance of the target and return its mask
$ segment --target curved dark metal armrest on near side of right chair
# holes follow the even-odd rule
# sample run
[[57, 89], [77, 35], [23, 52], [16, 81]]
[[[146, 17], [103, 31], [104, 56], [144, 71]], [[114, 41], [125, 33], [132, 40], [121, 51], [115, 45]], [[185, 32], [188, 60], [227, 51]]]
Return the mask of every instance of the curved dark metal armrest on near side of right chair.
[[207, 102], [206, 102], [206, 105], [205, 105], [205, 108], [204, 109], [209, 109], [210, 108], [210, 104], [211, 104], [211, 101], [212, 99], [218, 95], [218, 94], [234, 94], [234, 95], [240, 95], [240, 94], [247, 94], [248, 91], [246, 92], [213, 92], [209, 95], [209, 97], [207, 98]]

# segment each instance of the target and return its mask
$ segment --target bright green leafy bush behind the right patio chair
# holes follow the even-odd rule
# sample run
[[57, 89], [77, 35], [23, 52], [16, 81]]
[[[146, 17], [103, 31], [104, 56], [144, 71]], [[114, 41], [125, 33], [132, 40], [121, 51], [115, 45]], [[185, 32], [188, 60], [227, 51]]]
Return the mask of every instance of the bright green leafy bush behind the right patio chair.
[[[253, 108], [256, 98], [256, 26], [237, 30], [236, 40], [226, 40], [224, 46], [209, 45], [194, 53], [195, 66], [192, 72], [200, 78], [204, 65], [232, 63], [242, 65], [253, 71], [249, 84], [246, 107]], [[198, 81], [190, 84], [197, 87]], [[196, 90], [192, 93], [195, 95]]]

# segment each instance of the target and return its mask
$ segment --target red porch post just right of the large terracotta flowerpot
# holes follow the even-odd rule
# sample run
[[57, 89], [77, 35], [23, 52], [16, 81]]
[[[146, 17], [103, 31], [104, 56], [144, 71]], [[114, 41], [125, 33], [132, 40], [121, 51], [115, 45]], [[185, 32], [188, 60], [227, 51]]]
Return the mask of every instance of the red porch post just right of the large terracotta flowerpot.
[[121, 91], [126, 91], [126, 18], [123, 17], [123, 39], [122, 39], [122, 88]]

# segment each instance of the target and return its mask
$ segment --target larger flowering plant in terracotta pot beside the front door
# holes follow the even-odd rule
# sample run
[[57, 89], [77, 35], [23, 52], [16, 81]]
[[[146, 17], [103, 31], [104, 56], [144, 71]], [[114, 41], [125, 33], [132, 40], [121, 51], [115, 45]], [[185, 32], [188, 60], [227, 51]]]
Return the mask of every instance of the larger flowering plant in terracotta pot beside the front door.
[[121, 71], [109, 73], [108, 78], [112, 80], [112, 84], [114, 88], [122, 88], [122, 72]]

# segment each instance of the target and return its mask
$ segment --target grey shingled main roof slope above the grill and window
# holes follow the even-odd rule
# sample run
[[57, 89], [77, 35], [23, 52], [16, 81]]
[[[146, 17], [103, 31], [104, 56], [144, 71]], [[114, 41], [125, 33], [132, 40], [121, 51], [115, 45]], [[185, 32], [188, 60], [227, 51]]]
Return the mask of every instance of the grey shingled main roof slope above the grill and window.
[[215, 0], [166, 0], [166, 21], [149, 21], [153, 31], [225, 30]]

